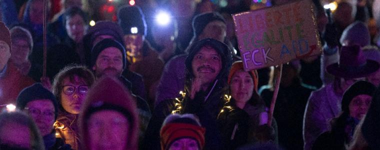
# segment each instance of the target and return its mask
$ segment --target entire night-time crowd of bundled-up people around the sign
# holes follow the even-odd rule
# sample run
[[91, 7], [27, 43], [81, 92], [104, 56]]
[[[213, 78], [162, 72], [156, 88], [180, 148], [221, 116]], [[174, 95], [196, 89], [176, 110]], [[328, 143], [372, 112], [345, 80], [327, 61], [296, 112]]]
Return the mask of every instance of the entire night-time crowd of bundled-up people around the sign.
[[232, 14], [292, 0], [56, 1], [0, 0], [0, 149], [380, 147], [380, 0], [312, 0], [323, 53], [249, 71]]

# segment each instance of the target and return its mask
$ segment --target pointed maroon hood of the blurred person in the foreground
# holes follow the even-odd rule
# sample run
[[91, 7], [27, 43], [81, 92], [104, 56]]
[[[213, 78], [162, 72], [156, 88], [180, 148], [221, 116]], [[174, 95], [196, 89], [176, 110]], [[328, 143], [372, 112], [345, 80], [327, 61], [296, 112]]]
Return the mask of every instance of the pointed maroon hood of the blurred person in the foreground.
[[[84, 142], [88, 145], [88, 118], [101, 110], [115, 110], [128, 120], [127, 149], [137, 149], [138, 117], [136, 103], [125, 86], [116, 78], [102, 77], [92, 84], [79, 113], [79, 131]], [[83, 147], [88, 149], [88, 147]]]

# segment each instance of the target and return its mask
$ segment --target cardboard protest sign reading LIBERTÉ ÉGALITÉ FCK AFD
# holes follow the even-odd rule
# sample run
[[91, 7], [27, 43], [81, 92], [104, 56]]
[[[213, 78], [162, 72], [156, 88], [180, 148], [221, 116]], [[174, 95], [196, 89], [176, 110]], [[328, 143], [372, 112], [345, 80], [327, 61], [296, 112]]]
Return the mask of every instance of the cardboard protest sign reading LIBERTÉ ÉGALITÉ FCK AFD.
[[310, 0], [242, 12], [232, 17], [245, 70], [322, 52]]

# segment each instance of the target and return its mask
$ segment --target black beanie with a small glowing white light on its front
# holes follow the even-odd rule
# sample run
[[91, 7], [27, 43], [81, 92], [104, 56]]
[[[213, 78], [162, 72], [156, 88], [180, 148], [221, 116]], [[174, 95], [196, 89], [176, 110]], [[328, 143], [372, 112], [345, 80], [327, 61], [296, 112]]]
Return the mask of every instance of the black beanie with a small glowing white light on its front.
[[124, 35], [132, 34], [132, 27], [137, 27], [137, 34], [146, 35], [146, 21], [140, 7], [123, 6], [119, 9], [117, 18]]

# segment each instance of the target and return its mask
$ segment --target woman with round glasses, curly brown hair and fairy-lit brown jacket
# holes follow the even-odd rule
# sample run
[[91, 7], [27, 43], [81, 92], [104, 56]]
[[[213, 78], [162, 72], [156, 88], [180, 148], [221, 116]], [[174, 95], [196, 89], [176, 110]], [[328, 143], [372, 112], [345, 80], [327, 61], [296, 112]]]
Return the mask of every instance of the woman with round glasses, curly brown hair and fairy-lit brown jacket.
[[58, 101], [58, 117], [54, 127], [57, 135], [70, 144], [72, 149], [80, 146], [77, 117], [94, 80], [92, 72], [79, 65], [66, 66], [54, 77], [51, 89]]

